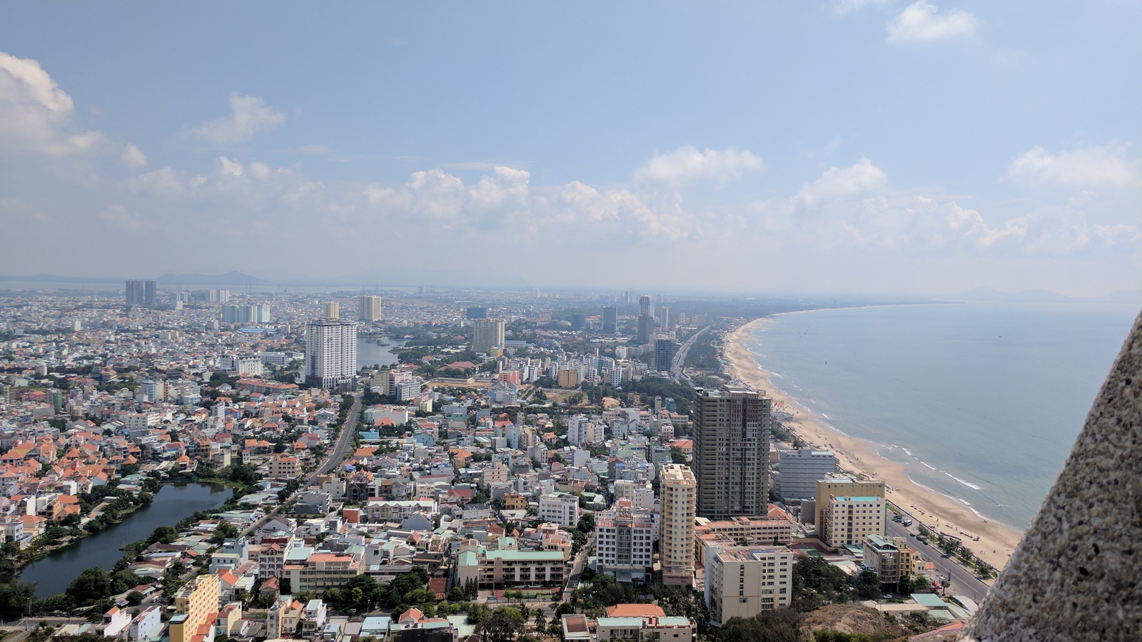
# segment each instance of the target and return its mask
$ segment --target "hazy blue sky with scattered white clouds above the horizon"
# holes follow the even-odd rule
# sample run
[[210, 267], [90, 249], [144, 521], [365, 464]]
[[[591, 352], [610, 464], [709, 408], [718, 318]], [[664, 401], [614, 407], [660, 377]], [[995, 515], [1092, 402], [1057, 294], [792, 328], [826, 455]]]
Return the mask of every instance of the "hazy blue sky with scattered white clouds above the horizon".
[[0, 274], [1142, 289], [1142, 2], [0, 3]]

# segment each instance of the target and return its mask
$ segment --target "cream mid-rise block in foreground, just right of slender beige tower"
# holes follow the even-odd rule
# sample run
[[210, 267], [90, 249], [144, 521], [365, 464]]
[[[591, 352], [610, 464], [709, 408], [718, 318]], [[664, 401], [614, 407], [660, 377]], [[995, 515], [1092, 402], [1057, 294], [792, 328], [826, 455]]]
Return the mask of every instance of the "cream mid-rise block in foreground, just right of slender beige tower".
[[706, 552], [706, 605], [710, 623], [751, 618], [788, 607], [793, 551], [786, 546], [718, 546]]

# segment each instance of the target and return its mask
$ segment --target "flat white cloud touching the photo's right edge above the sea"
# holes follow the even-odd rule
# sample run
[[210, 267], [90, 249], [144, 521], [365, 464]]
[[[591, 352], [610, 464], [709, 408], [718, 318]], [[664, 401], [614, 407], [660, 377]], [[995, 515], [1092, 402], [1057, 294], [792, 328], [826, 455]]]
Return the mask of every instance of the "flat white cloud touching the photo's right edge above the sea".
[[1007, 166], [1007, 178], [1023, 185], [1099, 185], [1128, 187], [1140, 179], [1136, 162], [1126, 158], [1126, 146], [1110, 143], [1060, 154], [1032, 147]]

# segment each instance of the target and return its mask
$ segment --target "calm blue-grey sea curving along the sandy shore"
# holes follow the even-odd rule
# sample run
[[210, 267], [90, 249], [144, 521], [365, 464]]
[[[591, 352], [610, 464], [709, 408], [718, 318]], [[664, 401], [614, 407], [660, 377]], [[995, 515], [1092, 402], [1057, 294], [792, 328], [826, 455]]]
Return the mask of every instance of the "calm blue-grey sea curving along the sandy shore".
[[1026, 529], [1139, 310], [965, 303], [786, 314], [750, 350], [774, 386], [904, 465], [912, 481]]

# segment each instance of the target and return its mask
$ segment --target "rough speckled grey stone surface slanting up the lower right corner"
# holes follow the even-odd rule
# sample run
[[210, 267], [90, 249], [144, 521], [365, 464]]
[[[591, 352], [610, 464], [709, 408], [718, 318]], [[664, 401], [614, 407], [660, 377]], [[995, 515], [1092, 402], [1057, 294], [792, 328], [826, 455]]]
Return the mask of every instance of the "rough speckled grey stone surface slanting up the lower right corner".
[[1142, 315], [965, 641], [1142, 640]]

